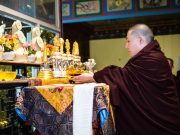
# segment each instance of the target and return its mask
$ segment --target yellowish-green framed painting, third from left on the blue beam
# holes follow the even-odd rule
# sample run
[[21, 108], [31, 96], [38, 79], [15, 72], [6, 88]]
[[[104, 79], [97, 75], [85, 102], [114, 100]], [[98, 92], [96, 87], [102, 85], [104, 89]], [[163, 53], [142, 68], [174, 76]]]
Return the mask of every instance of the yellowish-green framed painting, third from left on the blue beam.
[[134, 0], [104, 0], [105, 13], [134, 10]]

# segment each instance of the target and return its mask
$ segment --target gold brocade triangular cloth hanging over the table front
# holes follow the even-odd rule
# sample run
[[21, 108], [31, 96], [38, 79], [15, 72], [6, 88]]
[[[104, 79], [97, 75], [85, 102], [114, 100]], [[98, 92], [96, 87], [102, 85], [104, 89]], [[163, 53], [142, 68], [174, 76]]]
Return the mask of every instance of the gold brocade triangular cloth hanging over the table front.
[[62, 113], [73, 100], [73, 86], [37, 86], [37, 91], [57, 110]]

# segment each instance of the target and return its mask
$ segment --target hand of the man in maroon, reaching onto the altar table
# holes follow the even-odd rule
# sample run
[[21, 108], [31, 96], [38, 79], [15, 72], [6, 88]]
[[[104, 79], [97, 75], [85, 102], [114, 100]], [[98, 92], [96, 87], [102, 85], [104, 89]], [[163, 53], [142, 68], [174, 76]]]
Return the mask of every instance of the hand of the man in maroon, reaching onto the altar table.
[[79, 76], [75, 76], [75, 77], [71, 78], [71, 81], [73, 81], [76, 84], [92, 83], [92, 82], [95, 82], [93, 75], [94, 74], [92, 74], [92, 73], [84, 73], [84, 74], [81, 74]]

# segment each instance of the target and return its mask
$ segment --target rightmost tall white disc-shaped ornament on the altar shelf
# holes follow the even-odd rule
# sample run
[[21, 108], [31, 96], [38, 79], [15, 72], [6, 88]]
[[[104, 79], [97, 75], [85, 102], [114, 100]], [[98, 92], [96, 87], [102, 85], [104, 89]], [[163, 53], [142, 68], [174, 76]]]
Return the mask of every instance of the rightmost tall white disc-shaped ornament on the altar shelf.
[[32, 42], [31, 42], [31, 46], [34, 50], [36, 51], [42, 51], [44, 48], [44, 42], [43, 39], [41, 38], [41, 31], [40, 28], [34, 27], [32, 29]]

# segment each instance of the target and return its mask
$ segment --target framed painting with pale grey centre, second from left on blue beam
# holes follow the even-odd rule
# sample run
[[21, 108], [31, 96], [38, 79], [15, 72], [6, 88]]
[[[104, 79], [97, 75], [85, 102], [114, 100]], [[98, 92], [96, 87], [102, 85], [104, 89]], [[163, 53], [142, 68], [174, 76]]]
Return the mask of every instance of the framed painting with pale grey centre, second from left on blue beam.
[[99, 15], [102, 13], [102, 0], [78, 0], [74, 4], [75, 16]]

